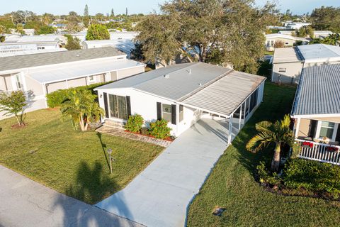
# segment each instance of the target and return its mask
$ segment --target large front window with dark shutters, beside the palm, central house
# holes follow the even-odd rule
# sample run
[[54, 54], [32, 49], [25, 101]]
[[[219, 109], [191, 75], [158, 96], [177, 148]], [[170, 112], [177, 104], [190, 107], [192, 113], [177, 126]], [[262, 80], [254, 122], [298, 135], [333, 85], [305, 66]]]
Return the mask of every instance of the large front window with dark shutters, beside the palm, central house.
[[110, 116], [128, 120], [128, 107], [126, 106], [126, 97], [109, 94], [108, 103], [110, 105]]

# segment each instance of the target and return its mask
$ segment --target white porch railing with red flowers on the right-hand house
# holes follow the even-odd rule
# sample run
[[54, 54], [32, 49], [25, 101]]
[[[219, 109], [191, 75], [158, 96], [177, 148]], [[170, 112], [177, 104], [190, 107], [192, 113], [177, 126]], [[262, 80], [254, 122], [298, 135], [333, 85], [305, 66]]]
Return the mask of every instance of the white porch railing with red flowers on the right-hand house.
[[295, 139], [300, 145], [299, 157], [340, 165], [340, 146]]

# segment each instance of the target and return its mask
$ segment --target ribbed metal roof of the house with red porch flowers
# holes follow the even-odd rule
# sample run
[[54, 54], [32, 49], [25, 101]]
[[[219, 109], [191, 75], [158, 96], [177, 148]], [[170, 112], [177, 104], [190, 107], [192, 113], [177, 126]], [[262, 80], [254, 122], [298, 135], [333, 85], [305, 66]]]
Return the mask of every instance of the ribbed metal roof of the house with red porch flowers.
[[292, 115], [340, 114], [340, 64], [306, 67]]

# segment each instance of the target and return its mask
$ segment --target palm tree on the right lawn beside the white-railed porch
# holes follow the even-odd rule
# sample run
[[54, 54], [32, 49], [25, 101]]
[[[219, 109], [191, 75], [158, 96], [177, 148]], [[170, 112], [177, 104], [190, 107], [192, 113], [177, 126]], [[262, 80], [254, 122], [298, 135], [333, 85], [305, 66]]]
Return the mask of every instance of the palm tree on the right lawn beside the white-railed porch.
[[290, 118], [285, 115], [283, 120], [271, 123], [268, 121], [261, 121], [256, 123], [256, 130], [259, 131], [249, 142], [246, 144], [246, 149], [251, 152], [258, 152], [263, 147], [271, 143], [275, 143], [275, 150], [273, 160], [271, 162], [271, 170], [278, 171], [280, 165], [280, 150], [281, 145], [289, 145], [293, 148], [294, 136], [293, 131], [290, 130]]

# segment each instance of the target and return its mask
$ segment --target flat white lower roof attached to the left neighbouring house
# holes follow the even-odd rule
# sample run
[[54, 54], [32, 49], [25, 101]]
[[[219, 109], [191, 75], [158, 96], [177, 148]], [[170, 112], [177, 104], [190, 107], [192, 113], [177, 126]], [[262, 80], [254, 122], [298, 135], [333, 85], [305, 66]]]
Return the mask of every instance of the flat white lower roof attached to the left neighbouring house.
[[41, 84], [64, 81], [65, 79], [76, 79], [89, 75], [103, 74], [115, 70], [124, 70], [132, 67], [144, 67], [145, 64], [133, 60], [97, 60], [94, 62], [74, 62], [63, 67], [43, 67], [30, 70], [31, 78]]

